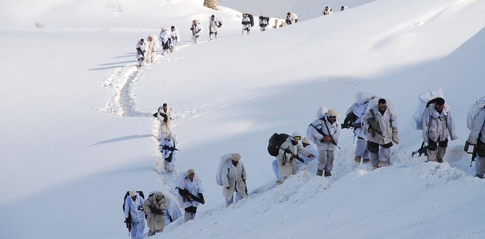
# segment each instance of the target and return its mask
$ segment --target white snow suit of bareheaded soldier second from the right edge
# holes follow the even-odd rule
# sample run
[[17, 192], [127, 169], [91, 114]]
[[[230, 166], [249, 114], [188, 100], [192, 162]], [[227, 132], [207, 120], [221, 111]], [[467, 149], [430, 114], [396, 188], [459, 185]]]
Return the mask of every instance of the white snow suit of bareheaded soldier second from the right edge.
[[451, 137], [451, 140], [458, 138], [450, 109], [445, 104], [445, 108], [439, 113], [434, 104], [429, 105], [423, 112], [423, 141], [429, 145], [428, 161], [443, 162], [448, 146], [448, 136]]

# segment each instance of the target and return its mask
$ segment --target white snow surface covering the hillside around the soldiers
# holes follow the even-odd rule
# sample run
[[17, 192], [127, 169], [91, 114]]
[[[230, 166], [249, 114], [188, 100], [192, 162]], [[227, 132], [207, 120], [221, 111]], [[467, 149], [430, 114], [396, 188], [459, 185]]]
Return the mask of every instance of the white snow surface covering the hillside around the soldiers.
[[[207, 203], [154, 238], [483, 238], [485, 182], [463, 144], [466, 111], [483, 97], [485, 2], [328, 1], [335, 14], [325, 17], [318, 1], [283, 2], [220, 0], [215, 11], [196, 0], [2, 1], [0, 238], [128, 238], [124, 193], [175, 199], [189, 168]], [[301, 22], [240, 36], [248, 11], [291, 11]], [[208, 42], [212, 14], [224, 24]], [[197, 45], [194, 18], [205, 28]], [[170, 25], [181, 45], [137, 69], [136, 40]], [[426, 163], [410, 157], [421, 143], [411, 116], [417, 96], [439, 87], [459, 139], [445, 163]], [[343, 130], [331, 177], [311, 165], [274, 187], [269, 136], [305, 132], [321, 106], [344, 114], [357, 91], [394, 103], [392, 166], [356, 166]], [[171, 175], [151, 116], [163, 103], [180, 149]], [[250, 197], [225, 208], [215, 172], [235, 152]]]

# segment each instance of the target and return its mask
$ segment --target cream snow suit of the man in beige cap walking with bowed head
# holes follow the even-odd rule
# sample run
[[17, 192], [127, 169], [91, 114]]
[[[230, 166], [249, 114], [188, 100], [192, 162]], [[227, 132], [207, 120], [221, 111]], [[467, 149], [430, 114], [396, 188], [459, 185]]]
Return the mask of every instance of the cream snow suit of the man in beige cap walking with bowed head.
[[[222, 169], [222, 195], [225, 198], [226, 206], [229, 206], [233, 202], [234, 192], [236, 192], [236, 202], [248, 196], [246, 192], [246, 169], [243, 162], [240, 160], [237, 165], [232, 164], [232, 160], [229, 160]], [[227, 189], [226, 187], [229, 187]]]

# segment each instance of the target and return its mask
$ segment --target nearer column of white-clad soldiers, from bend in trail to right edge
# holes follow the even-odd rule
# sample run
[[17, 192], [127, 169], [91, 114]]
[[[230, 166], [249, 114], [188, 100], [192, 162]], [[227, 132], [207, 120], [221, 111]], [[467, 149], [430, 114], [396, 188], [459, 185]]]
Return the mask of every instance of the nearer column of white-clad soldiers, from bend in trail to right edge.
[[[448, 146], [448, 138], [457, 139], [451, 107], [445, 102], [443, 90], [428, 90], [419, 96], [420, 103], [413, 114], [413, 127], [422, 130], [423, 142], [412, 156], [424, 154], [426, 162], [443, 163]], [[320, 107], [317, 119], [307, 128], [306, 136], [299, 132], [292, 135], [274, 133], [268, 143], [268, 153], [275, 157], [273, 171], [277, 178], [275, 185], [283, 183], [299, 169], [312, 170], [309, 162], [318, 159], [317, 176], [331, 176], [334, 151], [342, 129], [352, 128], [357, 136], [354, 161], [357, 165], [370, 163], [372, 170], [390, 166], [391, 147], [399, 144], [397, 115], [390, 99], [376, 97], [367, 92], [357, 92], [355, 103], [347, 110], [340, 124], [340, 114], [335, 109]], [[160, 121], [160, 152], [164, 169], [172, 173], [176, 156], [176, 141], [172, 134], [172, 109], [167, 104], [160, 106], [153, 114]], [[467, 113], [467, 127], [470, 133], [464, 151], [472, 154], [475, 163], [475, 176], [485, 174], [485, 97], [473, 103]], [[394, 143], [394, 144], [393, 144]], [[473, 151], [468, 152], [469, 146]], [[340, 149], [340, 148], [339, 148]], [[216, 173], [216, 183], [223, 186], [226, 206], [248, 196], [246, 169], [241, 156], [232, 153], [222, 156]], [[471, 165], [470, 165], [471, 166]], [[181, 173], [176, 187], [179, 201], [184, 208], [184, 220], [195, 218], [197, 207], [204, 204], [201, 179], [194, 169]], [[234, 194], [235, 199], [234, 199]], [[163, 231], [164, 226], [180, 218], [182, 213], [176, 202], [162, 192], [150, 193], [147, 200], [141, 191], [130, 191], [125, 195], [123, 204], [125, 222], [132, 237], [144, 236], [144, 224], [150, 228], [148, 236]]]

